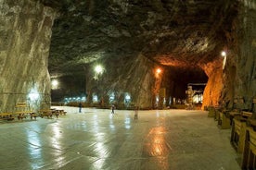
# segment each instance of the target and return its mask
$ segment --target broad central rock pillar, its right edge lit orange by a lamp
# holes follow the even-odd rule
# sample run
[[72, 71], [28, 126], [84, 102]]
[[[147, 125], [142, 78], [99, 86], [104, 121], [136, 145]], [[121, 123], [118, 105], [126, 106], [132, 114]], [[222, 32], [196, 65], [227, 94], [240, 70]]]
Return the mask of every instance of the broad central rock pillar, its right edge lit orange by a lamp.
[[[88, 103], [92, 103], [92, 95], [95, 93], [103, 106], [115, 103], [117, 107], [140, 106], [152, 108], [155, 96], [160, 92], [161, 75], [155, 75], [158, 67], [144, 55], [129, 58], [123, 57], [97, 61], [104, 67], [102, 75], [95, 75], [87, 71], [86, 90]], [[93, 70], [95, 64], [91, 64], [87, 70]], [[97, 79], [94, 79], [96, 78]], [[104, 87], [104, 89], [102, 89]], [[109, 102], [109, 96], [114, 94], [114, 100]], [[124, 102], [125, 95], [131, 96], [131, 102]]]

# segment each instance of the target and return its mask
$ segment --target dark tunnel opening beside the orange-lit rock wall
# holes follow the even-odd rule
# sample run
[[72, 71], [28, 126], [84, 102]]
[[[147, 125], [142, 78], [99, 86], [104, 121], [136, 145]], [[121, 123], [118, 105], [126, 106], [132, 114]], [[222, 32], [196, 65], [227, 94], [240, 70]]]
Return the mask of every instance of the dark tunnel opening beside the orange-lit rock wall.
[[[166, 89], [165, 105], [173, 107], [188, 104], [187, 87], [193, 86], [193, 103], [200, 105], [203, 101], [203, 91], [208, 82], [208, 76], [201, 67], [168, 67], [166, 77], [162, 79], [161, 87]], [[197, 85], [196, 85], [197, 84]]]

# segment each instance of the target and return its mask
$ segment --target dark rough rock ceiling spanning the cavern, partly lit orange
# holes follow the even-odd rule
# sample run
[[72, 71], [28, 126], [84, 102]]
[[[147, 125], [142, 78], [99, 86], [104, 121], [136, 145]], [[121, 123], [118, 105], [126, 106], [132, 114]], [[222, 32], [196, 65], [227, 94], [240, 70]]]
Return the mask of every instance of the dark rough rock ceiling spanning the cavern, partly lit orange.
[[51, 74], [138, 54], [170, 67], [200, 66], [219, 57], [237, 17], [235, 0], [41, 1], [58, 11]]

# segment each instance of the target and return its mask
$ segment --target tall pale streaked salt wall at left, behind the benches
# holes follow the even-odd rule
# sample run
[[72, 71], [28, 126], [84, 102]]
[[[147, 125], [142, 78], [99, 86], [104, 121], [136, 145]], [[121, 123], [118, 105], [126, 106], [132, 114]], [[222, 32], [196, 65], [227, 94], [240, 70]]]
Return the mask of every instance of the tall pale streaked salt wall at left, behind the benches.
[[55, 13], [33, 0], [0, 0], [0, 106], [49, 107], [47, 57]]

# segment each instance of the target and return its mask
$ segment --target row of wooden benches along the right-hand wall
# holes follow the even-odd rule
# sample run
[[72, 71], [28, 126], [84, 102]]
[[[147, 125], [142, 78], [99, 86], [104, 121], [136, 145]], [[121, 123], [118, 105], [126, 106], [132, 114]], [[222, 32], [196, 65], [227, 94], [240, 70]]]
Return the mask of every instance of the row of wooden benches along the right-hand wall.
[[219, 128], [231, 128], [230, 142], [242, 154], [241, 169], [256, 169], [256, 119], [252, 113], [210, 107], [208, 116], [214, 117]]

